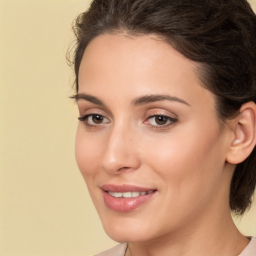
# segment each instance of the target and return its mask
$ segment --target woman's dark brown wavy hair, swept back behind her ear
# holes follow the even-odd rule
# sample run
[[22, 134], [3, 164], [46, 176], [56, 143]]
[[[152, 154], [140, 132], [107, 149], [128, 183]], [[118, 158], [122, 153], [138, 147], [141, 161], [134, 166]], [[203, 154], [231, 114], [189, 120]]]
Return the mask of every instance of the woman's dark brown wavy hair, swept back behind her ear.
[[[216, 98], [222, 122], [256, 102], [256, 16], [246, 0], [94, 0], [73, 23], [75, 89], [88, 43], [104, 33], [156, 34], [198, 63], [197, 73]], [[237, 164], [229, 206], [242, 215], [256, 183], [256, 149]]]

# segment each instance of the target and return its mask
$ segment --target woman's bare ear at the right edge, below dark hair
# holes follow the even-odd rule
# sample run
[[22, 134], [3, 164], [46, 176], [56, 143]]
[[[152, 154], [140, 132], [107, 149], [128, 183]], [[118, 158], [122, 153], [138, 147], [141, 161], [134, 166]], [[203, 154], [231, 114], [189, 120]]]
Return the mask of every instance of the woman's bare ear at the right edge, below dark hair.
[[241, 105], [232, 125], [233, 136], [226, 161], [237, 164], [245, 160], [256, 144], [256, 105], [249, 101]]

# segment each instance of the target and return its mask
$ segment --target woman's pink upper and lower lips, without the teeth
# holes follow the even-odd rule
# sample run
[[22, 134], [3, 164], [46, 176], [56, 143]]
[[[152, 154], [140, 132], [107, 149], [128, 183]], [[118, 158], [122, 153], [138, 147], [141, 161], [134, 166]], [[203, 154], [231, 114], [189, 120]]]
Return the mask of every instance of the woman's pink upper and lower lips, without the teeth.
[[[104, 184], [100, 187], [103, 192], [103, 199], [106, 206], [112, 210], [120, 211], [120, 212], [128, 212], [132, 211], [135, 208], [139, 207], [141, 204], [147, 202], [153, 195], [156, 193], [156, 189], [154, 188], [146, 188], [146, 187], [139, 187], [134, 185], [115, 185], [115, 184]], [[108, 194], [107, 191], [112, 192], [128, 192], [128, 191], [150, 191], [153, 190], [152, 193], [139, 195], [136, 197], [114, 197]]]

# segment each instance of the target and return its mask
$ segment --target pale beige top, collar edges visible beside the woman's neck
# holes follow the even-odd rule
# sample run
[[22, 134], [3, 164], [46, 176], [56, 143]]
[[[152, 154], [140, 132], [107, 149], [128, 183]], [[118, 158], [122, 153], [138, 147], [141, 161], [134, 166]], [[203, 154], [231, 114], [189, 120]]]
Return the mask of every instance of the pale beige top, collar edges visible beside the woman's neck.
[[[256, 256], [256, 238], [249, 237], [250, 242], [238, 256]], [[120, 243], [111, 249], [102, 251], [94, 256], [124, 256], [127, 243]]]

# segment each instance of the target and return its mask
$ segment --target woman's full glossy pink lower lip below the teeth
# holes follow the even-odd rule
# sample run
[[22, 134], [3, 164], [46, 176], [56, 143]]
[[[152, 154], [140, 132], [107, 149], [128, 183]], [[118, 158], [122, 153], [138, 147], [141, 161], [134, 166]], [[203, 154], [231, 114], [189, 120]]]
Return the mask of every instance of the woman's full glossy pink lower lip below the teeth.
[[156, 191], [153, 191], [149, 194], [139, 195], [135, 197], [114, 197], [110, 195], [108, 192], [103, 191], [103, 198], [105, 201], [105, 204], [108, 208], [115, 210], [115, 211], [122, 211], [127, 212], [134, 210], [147, 200], [149, 200]]

